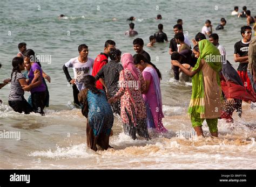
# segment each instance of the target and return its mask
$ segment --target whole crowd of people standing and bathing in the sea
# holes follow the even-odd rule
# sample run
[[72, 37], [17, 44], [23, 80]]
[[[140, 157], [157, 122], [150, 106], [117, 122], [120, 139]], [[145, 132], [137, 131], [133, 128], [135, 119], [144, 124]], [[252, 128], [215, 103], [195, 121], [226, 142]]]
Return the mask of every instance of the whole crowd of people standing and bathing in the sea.
[[[247, 25], [240, 30], [241, 40], [234, 44], [234, 61], [239, 62], [237, 70], [226, 59], [226, 51], [220, 45], [219, 36], [213, 33], [210, 20], [191, 41], [183, 32], [183, 20], [178, 19], [173, 26], [174, 37], [169, 41], [163, 32], [163, 24], [149, 37], [147, 47], [156, 42], [170, 42], [170, 66], [175, 80], [189, 81], [192, 77], [192, 96], [188, 114], [197, 135], [203, 135], [202, 123], [206, 120], [212, 136], [218, 136], [218, 119], [233, 122], [233, 112], [241, 117], [242, 100], [256, 101], [256, 38], [252, 38], [254, 24], [250, 10], [243, 7], [238, 13], [235, 6], [232, 15], [247, 17]], [[64, 15], [60, 15], [65, 17]], [[129, 21], [134, 21], [130, 17]], [[156, 19], [162, 19], [157, 15]], [[215, 30], [224, 29], [227, 21], [220, 19]], [[129, 24], [126, 35], [137, 35], [134, 23]], [[255, 24], [253, 26], [255, 31]], [[107, 40], [103, 52], [91, 58], [89, 46], [78, 46], [79, 56], [72, 57], [63, 64], [66, 80], [72, 85], [74, 103], [82, 109], [87, 118], [87, 146], [93, 150], [112, 148], [109, 137], [114, 113], [120, 115], [124, 132], [137, 139], [142, 136], [150, 139], [149, 129], [158, 133], [167, 132], [163, 125], [163, 104], [161, 98], [159, 69], [151, 62], [150, 54], [144, 51], [141, 38], [133, 40], [134, 55], [123, 53], [116, 48], [116, 42]], [[8, 103], [16, 112], [29, 114], [36, 112], [45, 115], [49, 106], [49, 91], [46, 84], [51, 78], [42, 69], [32, 49], [26, 49], [25, 42], [18, 44], [19, 53], [12, 59], [12, 73], [0, 84], [0, 88], [10, 83]], [[109, 60], [110, 59], [110, 60]], [[119, 63], [121, 62], [121, 63]], [[73, 69], [74, 77], [69, 74]], [[24, 92], [31, 95], [26, 100]]]

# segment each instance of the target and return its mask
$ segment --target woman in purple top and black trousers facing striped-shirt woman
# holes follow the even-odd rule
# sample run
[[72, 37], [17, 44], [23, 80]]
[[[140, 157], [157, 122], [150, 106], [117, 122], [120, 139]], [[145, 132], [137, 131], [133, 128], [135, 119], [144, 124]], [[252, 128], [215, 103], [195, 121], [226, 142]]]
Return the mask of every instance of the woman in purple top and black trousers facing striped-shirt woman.
[[[35, 52], [32, 49], [28, 49], [24, 52], [24, 61], [26, 70], [29, 71], [29, 84], [31, 84], [35, 74], [40, 72], [40, 77], [36, 80], [36, 87], [30, 90], [32, 107], [35, 112], [41, 113], [44, 116], [45, 98], [46, 98], [46, 87], [43, 83], [43, 73], [39, 66], [39, 62], [36, 59]], [[26, 90], [26, 87], [23, 88]]]

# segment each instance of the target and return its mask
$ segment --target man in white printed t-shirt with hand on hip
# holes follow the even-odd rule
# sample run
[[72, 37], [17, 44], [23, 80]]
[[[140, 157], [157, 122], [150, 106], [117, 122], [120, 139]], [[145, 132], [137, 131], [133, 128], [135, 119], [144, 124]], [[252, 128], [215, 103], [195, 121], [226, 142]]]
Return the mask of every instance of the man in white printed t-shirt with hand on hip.
[[[94, 60], [88, 57], [88, 46], [85, 44], [78, 47], [79, 56], [70, 59], [63, 66], [66, 79], [70, 84], [73, 84], [74, 103], [80, 105], [78, 101], [78, 93], [84, 89], [84, 77], [92, 74]], [[71, 78], [68, 68], [72, 68], [75, 78]]]

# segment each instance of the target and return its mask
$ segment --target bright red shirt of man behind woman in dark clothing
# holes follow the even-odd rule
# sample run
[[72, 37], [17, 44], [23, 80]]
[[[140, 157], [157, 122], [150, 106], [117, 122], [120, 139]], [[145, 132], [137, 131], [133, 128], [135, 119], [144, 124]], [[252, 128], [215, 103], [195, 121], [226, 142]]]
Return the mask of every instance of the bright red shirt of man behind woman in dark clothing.
[[[99, 70], [102, 69], [102, 67], [105, 64], [107, 64], [107, 62], [109, 62], [108, 59], [109, 59], [109, 55], [105, 53], [100, 53], [98, 56], [96, 56], [96, 59], [94, 61], [93, 68], [92, 68], [92, 76], [95, 77], [97, 75]], [[96, 81], [96, 88], [103, 90], [103, 85], [99, 80]]]

